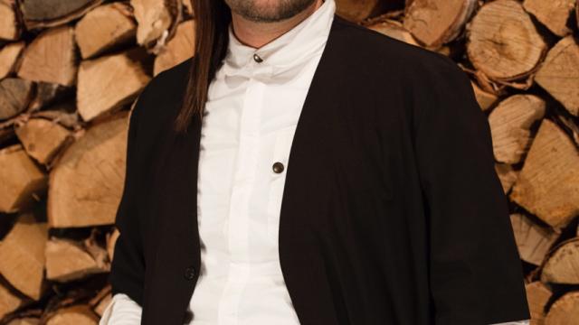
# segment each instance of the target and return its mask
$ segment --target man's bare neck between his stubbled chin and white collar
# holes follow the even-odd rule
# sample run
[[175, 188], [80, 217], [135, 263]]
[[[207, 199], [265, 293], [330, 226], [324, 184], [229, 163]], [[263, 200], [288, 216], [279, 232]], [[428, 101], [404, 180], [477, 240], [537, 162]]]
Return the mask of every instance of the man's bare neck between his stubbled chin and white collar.
[[233, 33], [243, 44], [259, 49], [261, 46], [275, 40], [308, 18], [308, 16], [313, 14], [323, 3], [323, 0], [318, 0], [301, 13], [275, 23], [256, 23], [243, 18], [239, 14], [233, 13]]

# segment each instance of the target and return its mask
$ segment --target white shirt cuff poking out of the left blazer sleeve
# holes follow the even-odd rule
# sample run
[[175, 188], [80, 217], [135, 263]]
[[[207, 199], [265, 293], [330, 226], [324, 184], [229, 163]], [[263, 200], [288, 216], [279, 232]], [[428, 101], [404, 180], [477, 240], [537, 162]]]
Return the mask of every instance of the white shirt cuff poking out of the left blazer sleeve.
[[142, 308], [125, 293], [113, 295], [102, 313], [99, 325], [138, 325], [141, 323]]

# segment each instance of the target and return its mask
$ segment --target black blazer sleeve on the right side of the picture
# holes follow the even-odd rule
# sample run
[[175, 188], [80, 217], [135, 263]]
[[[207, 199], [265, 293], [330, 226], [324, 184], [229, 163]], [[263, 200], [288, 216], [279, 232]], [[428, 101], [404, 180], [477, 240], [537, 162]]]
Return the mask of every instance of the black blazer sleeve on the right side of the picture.
[[528, 320], [522, 265], [487, 117], [460, 67], [442, 56], [433, 63], [413, 98], [433, 324]]

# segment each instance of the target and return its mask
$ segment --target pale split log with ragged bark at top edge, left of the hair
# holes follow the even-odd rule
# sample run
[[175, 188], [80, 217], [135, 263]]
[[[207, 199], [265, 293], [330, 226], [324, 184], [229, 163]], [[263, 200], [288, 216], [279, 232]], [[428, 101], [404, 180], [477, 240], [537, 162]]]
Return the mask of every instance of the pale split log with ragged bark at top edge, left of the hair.
[[130, 0], [137, 19], [137, 42], [150, 47], [152, 43], [172, 36], [180, 18], [181, 0]]

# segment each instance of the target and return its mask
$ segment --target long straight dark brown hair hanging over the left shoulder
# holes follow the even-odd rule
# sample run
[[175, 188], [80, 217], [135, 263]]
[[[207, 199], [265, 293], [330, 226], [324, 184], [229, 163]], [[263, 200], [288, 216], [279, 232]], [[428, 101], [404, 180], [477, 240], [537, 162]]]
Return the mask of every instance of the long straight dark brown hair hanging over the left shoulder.
[[195, 53], [181, 108], [175, 120], [177, 134], [185, 133], [193, 116], [203, 116], [207, 89], [225, 57], [231, 10], [223, 0], [191, 0], [195, 14]]

